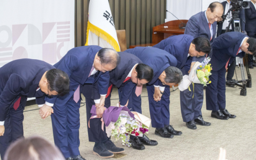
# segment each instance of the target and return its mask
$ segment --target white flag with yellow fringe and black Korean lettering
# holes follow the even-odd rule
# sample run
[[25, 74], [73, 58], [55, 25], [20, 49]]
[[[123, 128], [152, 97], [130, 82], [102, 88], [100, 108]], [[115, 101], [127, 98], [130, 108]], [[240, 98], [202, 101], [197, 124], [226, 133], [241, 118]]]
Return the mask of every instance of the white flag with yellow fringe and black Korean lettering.
[[120, 51], [108, 0], [90, 0], [85, 46], [88, 45]]

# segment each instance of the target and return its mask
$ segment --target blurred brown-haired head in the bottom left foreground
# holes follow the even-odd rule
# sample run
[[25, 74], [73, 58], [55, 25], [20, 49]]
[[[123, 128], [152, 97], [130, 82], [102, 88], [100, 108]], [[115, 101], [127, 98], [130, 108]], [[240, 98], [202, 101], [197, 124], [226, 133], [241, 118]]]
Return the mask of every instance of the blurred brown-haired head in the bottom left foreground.
[[4, 160], [65, 160], [61, 151], [42, 137], [19, 139], [6, 151]]

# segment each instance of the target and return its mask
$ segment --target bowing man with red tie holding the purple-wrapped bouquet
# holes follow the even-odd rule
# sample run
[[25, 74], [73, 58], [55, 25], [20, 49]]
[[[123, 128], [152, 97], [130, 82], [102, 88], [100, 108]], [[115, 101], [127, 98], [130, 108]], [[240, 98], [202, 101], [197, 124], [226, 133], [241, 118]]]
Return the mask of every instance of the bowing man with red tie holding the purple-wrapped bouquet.
[[[119, 91], [119, 106], [127, 106], [129, 96], [134, 88], [141, 91], [142, 85], [148, 83], [153, 78], [153, 69], [146, 64], [142, 64], [142, 61], [127, 52], [118, 52], [121, 60], [114, 70], [109, 73], [110, 81], [108, 87], [108, 93], [105, 100], [105, 107], [108, 108], [111, 105], [110, 98], [113, 86], [116, 86]], [[90, 111], [94, 102], [92, 99], [99, 99], [98, 86], [96, 84], [87, 86], [93, 88], [93, 96], [91, 96], [90, 90], [83, 90], [83, 94], [86, 97], [87, 111]], [[88, 93], [89, 92], [89, 93]], [[116, 104], [115, 104], [116, 105]], [[114, 106], [115, 106], [114, 105]], [[91, 117], [90, 112], [87, 112], [87, 122]], [[93, 151], [100, 157], [113, 157], [113, 153], [124, 152], [123, 148], [116, 147], [113, 142], [107, 137], [106, 133], [102, 131], [102, 122], [100, 119], [90, 119], [90, 128], [88, 128], [88, 136], [90, 142], [95, 142]], [[88, 126], [88, 125], [87, 125]], [[99, 133], [100, 132], [100, 133]], [[157, 145], [154, 140], [149, 140], [146, 143], [151, 145]], [[101, 148], [105, 148], [101, 151]]]

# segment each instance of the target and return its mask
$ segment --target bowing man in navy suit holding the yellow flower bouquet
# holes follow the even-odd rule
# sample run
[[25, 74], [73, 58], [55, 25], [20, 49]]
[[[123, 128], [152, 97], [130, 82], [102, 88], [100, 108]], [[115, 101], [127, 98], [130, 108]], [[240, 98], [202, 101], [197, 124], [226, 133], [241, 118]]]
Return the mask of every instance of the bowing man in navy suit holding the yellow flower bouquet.
[[[194, 38], [191, 35], [173, 35], [153, 47], [163, 49], [175, 56], [177, 59], [177, 68], [182, 70], [183, 75], [189, 75], [188, 72], [190, 70], [192, 57], [204, 56], [211, 51], [211, 45], [207, 38]], [[192, 84], [190, 87], [193, 88]], [[183, 92], [180, 92], [180, 107], [183, 122], [187, 123], [194, 120], [200, 125], [211, 125], [211, 123], [204, 121], [201, 108], [192, 108], [191, 99], [187, 99], [185, 96], [189, 95], [190, 97], [194, 93], [189, 90], [184, 90]], [[177, 135], [177, 133], [172, 134]]]

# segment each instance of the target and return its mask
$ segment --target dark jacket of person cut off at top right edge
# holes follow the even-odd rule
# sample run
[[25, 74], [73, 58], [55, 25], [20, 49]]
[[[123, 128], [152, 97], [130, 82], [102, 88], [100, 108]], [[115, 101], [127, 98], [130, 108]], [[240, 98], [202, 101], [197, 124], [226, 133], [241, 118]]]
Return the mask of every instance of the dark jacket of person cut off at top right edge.
[[250, 9], [244, 9], [245, 12], [245, 31], [256, 33], [256, 10], [250, 1]]

